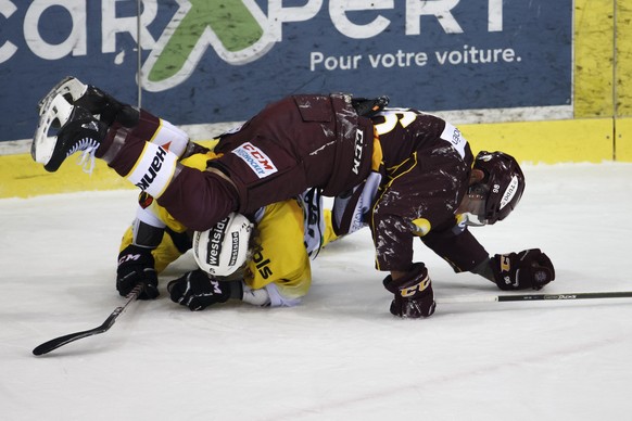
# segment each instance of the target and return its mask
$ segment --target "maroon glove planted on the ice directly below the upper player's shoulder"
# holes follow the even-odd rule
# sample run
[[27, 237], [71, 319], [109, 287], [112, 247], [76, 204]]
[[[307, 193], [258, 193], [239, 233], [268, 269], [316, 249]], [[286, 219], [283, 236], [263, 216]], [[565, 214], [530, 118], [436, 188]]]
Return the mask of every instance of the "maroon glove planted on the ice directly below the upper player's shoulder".
[[384, 288], [395, 294], [391, 303], [391, 314], [403, 318], [418, 319], [434, 312], [434, 294], [422, 263], [416, 263], [404, 277], [393, 281], [389, 275], [383, 280]]

